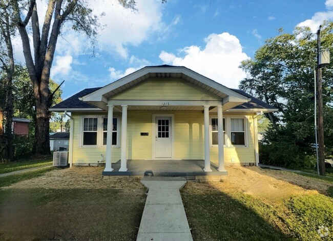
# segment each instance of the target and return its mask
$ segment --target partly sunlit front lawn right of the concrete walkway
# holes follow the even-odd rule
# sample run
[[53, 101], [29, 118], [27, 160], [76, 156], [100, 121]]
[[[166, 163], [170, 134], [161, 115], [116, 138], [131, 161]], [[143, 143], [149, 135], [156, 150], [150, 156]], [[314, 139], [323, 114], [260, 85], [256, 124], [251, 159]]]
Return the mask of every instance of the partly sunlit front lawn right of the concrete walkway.
[[333, 239], [332, 184], [256, 167], [227, 170], [223, 182], [181, 190], [194, 240]]

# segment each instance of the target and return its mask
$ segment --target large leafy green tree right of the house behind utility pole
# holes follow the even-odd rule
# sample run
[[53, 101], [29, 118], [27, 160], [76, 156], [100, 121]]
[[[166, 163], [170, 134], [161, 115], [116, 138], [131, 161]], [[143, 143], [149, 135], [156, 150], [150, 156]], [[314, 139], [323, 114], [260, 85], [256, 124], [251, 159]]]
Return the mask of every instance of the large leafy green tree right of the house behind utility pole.
[[[324, 23], [323, 47], [331, 48], [332, 30], [333, 23]], [[279, 109], [279, 112], [266, 114], [272, 125], [265, 135], [262, 157], [272, 164], [309, 167], [315, 159], [311, 144], [315, 142], [316, 35], [306, 27], [297, 27], [293, 34], [282, 31], [268, 39], [253, 59], [241, 64], [247, 77], [240, 88]], [[325, 144], [331, 148], [333, 126], [329, 116], [333, 113], [333, 68], [330, 66], [323, 70], [323, 83]]]

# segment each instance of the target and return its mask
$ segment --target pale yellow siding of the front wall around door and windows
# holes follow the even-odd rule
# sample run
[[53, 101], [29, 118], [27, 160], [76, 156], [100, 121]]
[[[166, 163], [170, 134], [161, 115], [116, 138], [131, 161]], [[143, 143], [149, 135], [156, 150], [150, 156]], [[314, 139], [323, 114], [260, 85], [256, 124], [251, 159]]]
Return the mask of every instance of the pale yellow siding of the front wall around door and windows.
[[[153, 114], [174, 114], [174, 157], [175, 159], [203, 159], [204, 158], [204, 122], [202, 111], [128, 111], [127, 126], [127, 158], [128, 159], [152, 159], [153, 145], [155, 139], [152, 133]], [[74, 140], [73, 140], [73, 164], [97, 163], [102, 154], [105, 158], [106, 147], [80, 147], [80, 125], [82, 116], [98, 117], [98, 127], [101, 128], [101, 119], [105, 114], [83, 114], [73, 113], [74, 117]], [[216, 116], [216, 113], [210, 113]], [[225, 114], [223, 117], [244, 117], [244, 115]], [[119, 118], [119, 137], [121, 136], [121, 113], [114, 113]], [[254, 118], [253, 115], [246, 115], [248, 121], [246, 132], [246, 147], [224, 147], [225, 165], [232, 163], [255, 163], [254, 150]], [[154, 124], [155, 125], [155, 124]], [[141, 136], [141, 132], [148, 132], [148, 136]], [[211, 133], [210, 133], [211, 135]], [[101, 132], [97, 134], [97, 142], [102, 142]], [[211, 147], [211, 161], [218, 163], [218, 148]], [[119, 147], [112, 148], [112, 163], [120, 159], [120, 138]]]

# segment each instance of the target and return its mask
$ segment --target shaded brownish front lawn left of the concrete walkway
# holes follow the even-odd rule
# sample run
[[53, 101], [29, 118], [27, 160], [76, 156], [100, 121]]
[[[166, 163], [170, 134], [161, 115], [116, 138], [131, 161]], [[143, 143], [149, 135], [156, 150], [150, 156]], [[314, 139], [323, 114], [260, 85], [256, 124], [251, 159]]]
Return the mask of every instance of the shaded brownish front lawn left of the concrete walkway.
[[103, 180], [102, 169], [55, 169], [1, 189], [0, 240], [135, 240], [146, 190]]

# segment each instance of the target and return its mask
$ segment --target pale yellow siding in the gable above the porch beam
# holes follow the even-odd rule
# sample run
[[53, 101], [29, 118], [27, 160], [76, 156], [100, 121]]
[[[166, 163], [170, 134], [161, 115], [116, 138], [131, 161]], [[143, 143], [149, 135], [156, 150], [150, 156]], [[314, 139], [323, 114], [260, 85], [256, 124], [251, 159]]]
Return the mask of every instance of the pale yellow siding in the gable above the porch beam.
[[181, 78], [150, 78], [129, 90], [112, 96], [110, 99], [220, 100], [217, 96]]

